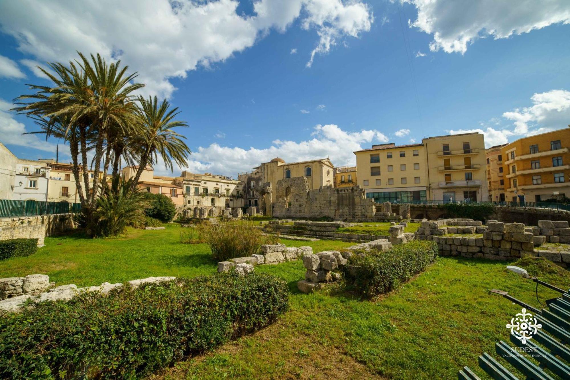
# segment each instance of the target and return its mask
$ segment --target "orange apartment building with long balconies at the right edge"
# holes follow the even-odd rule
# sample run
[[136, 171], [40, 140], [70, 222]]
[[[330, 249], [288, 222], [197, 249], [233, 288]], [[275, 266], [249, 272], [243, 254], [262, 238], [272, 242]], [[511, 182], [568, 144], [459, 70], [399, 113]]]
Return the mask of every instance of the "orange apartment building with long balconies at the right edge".
[[570, 197], [570, 128], [528, 136], [501, 148], [508, 201]]

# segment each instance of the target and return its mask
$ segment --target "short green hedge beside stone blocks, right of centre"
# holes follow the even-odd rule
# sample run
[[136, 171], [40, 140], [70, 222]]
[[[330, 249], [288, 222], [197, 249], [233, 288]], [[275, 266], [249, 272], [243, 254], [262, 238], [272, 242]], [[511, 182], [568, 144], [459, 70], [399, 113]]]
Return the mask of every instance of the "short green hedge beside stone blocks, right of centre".
[[349, 286], [364, 297], [372, 298], [392, 290], [424, 270], [437, 257], [437, 244], [414, 240], [394, 245], [388, 252], [353, 256], [345, 265]]

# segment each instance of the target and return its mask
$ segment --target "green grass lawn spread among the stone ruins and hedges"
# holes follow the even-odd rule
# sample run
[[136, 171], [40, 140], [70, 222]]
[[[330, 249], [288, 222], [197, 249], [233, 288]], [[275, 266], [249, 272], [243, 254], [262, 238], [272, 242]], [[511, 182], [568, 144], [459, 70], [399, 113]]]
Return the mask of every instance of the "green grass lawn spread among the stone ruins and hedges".
[[[180, 227], [129, 229], [121, 238], [46, 238], [30, 257], [0, 261], [0, 277], [49, 274], [58, 285], [98, 285], [148, 276], [212, 274], [216, 264], [205, 244], [181, 244]], [[283, 240], [315, 252], [351, 245], [341, 241]], [[494, 357], [494, 343], [508, 341], [505, 325], [520, 307], [490, 289], [502, 289], [538, 307], [534, 282], [507, 272], [506, 263], [439, 258], [394, 292], [361, 301], [343, 292], [302, 294], [301, 261], [257, 266], [288, 282], [290, 311], [275, 324], [156, 374], [157, 378], [457, 378], [464, 365], [482, 375], [477, 358]], [[530, 271], [531, 272], [531, 271]], [[531, 272], [532, 273], [532, 272]], [[570, 288], [565, 270], [539, 278]], [[541, 300], [557, 293], [539, 288]], [[506, 362], [502, 361], [503, 365]], [[506, 365], [508, 367], [508, 365]]]

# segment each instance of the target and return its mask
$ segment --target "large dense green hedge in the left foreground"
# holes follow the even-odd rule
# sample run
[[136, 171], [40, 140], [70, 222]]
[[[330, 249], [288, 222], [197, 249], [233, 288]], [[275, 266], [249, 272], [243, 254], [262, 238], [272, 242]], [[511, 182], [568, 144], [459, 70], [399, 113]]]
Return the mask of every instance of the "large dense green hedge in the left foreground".
[[267, 326], [287, 283], [223, 273], [84, 293], [0, 318], [0, 378], [140, 378]]

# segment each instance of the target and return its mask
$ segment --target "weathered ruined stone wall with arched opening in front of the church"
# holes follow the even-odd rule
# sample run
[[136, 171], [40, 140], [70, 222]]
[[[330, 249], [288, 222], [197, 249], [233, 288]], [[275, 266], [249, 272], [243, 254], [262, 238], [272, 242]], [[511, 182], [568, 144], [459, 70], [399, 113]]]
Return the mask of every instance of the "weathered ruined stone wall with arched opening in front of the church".
[[306, 177], [277, 181], [274, 192], [275, 217], [320, 218], [333, 220], [372, 220], [376, 206], [358, 186], [334, 188], [331, 185], [310, 190]]

